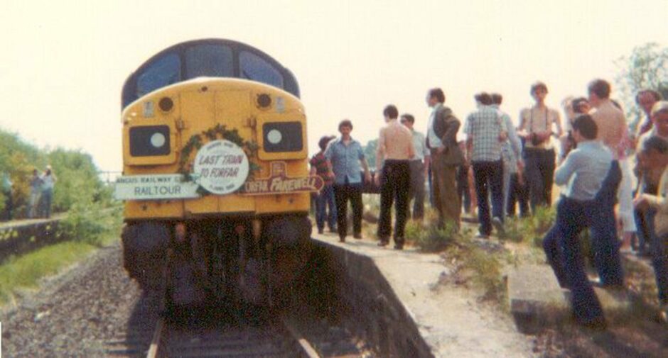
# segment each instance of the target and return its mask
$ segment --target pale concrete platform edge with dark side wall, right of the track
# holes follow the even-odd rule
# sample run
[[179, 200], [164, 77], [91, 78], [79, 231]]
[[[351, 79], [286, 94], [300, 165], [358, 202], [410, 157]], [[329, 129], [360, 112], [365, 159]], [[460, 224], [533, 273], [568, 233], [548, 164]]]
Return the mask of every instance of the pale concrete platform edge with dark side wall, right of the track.
[[313, 242], [345, 276], [340, 296], [357, 320], [352, 330], [381, 357], [534, 357], [507, 315], [468, 289], [439, 284], [451, 272], [437, 254], [352, 237], [340, 243], [335, 234]]

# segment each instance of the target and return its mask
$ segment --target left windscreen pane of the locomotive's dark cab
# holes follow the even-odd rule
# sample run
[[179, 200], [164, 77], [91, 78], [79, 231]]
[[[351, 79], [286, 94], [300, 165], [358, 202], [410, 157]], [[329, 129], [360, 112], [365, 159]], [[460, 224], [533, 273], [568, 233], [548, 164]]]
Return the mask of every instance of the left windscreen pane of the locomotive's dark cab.
[[137, 97], [181, 81], [181, 60], [169, 54], [153, 61], [137, 78]]

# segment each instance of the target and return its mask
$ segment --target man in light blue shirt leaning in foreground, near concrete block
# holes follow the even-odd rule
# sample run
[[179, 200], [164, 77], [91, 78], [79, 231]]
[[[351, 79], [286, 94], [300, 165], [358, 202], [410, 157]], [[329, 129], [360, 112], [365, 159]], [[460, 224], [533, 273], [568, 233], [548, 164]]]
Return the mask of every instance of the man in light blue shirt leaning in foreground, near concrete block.
[[[600, 302], [585, 271], [578, 236], [592, 228], [596, 266], [601, 281], [620, 285], [623, 281], [618, 250], [605, 246], [607, 235], [602, 227], [615, 228], [614, 205], [621, 181], [621, 170], [613, 154], [596, 140], [598, 129], [589, 115], [573, 122], [573, 138], [578, 147], [556, 169], [554, 182], [564, 185], [557, 205], [556, 221], [544, 237], [547, 261], [561, 286], [571, 289], [571, 305], [579, 323], [605, 328]], [[614, 278], [614, 280], [613, 280]]]

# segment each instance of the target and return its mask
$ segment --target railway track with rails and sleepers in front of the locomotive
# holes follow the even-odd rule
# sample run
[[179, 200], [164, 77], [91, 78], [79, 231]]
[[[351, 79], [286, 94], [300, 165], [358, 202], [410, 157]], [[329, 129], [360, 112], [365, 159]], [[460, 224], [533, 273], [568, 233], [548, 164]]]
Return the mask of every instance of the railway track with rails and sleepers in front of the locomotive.
[[108, 357], [370, 357], [363, 353], [365, 349], [357, 347], [348, 332], [330, 325], [309, 328], [307, 339], [298, 325], [284, 317], [249, 322], [208, 315], [173, 321], [160, 317], [156, 301], [140, 301], [126, 328], [107, 342]]

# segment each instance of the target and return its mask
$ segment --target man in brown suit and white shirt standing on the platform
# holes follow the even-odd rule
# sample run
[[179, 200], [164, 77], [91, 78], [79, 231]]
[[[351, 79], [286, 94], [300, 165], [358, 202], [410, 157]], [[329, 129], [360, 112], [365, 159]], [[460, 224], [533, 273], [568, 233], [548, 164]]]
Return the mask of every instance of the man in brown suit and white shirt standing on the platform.
[[440, 225], [453, 225], [459, 230], [461, 203], [457, 195], [457, 167], [463, 154], [457, 145], [460, 121], [450, 108], [443, 106], [446, 96], [440, 88], [430, 89], [426, 102], [431, 109], [427, 125], [427, 147], [431, 151], [433, 204], [438, 210]]

